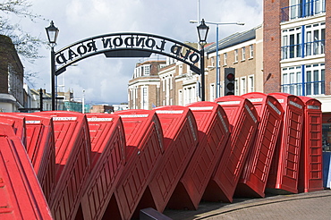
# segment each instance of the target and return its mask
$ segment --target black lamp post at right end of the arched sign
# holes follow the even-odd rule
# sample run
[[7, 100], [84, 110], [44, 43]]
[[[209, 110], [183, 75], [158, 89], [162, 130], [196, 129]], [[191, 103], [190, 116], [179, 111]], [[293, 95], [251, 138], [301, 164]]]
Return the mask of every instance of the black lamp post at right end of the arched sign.
[[209, 27], [205, 20], [202, 19], [200, 25], [197, 27], [199, 35], [200, 50], [200, 70], [201, 70], [201, 101], [205, 101], [205, 45], [207, 44], [207, 35]]

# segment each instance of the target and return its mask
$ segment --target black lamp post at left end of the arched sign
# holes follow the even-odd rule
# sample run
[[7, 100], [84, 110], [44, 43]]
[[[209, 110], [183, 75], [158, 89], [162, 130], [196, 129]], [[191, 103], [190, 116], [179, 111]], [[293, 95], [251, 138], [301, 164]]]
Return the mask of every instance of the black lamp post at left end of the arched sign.
[[51, 86], [52, 86], [52, 111], [55, 108], [55, 51], [56, 39], [59, 30], [54, 26], [54, 22], [51, 21], [50, 25], [45, 28], [47, 32], [48, 45], [51, 47]]

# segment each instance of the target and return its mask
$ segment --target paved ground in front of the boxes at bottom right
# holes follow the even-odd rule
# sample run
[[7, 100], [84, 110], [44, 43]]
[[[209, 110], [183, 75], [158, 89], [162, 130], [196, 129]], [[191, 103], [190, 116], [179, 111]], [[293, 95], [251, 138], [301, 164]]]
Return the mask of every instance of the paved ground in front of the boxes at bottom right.
[[263, 199], [233, 199], [233, 203], [201, 202], [199, 209], [165, 210], [174, 220], [191, 219], [331, 219], [331, 190]]

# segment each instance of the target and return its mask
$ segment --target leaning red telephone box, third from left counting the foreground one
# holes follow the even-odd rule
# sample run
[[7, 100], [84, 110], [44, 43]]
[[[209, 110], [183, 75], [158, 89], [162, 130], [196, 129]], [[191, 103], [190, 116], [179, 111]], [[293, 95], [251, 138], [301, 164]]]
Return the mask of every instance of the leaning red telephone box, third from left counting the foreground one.
[[47, 202], [54, 197], [55, 140], [53, 121], [49, 117], [18, 114], [25, 118], [27, 153], [37, 174]]

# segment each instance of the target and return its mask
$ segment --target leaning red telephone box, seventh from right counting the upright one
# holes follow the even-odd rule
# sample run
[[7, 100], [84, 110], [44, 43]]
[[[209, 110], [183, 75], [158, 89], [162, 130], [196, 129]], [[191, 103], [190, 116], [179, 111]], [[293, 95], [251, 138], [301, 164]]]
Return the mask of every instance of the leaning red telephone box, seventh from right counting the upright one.
[[105, 217], [131, 219], [164, 152], [163, 133], [154, 111], [137, 109], [115, 114], [123, 121], [126, 165], [116, 185], [115, 200], [111, 199], [113, 205], [106, 211], [109, 216]]

